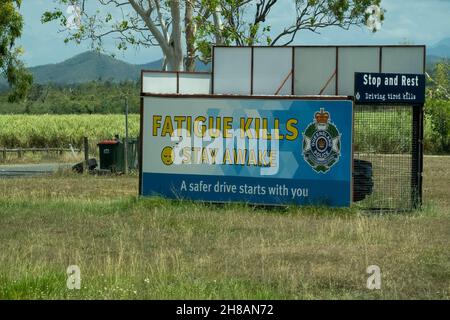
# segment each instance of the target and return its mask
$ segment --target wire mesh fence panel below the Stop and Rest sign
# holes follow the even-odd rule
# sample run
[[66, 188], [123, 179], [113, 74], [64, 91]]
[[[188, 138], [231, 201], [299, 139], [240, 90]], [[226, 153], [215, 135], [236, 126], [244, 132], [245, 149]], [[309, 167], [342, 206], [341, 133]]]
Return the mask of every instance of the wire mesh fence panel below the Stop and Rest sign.
[[[422, 119], [422, 106], [355, 105], [354, 158], [370, 162], [373, 176], [372, 194], [356, 205], [380, 210], [420, 206]], [[371, 183], [355, 179], [355, 189], [372, 188]]]

